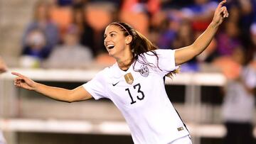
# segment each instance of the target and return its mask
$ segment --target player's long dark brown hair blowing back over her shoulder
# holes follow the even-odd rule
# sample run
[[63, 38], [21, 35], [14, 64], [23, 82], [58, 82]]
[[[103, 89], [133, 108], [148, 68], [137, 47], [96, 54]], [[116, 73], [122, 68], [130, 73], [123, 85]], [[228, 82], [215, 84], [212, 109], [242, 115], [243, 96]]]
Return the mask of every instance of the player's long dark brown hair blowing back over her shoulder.
[[[130, 48], [133, 54], [132, 61], [128, 65], [132, 65], [132, 63], [142, 63], [143, 65], [149, 65], [149, 67], [157, 67], [159, 68], [159, 57], [156, 54], [155, 50], [158, 49], [156, 45], [151, 43], [150, 40], [148, 40], [142, 33], [139, 33], [136, 31], [132, 26], [129, 26], [129, 24], [124, 22], [114, 22], [110, 23], [110, 25], [118, 26], [121, 28], [121, 31], [124, 32], [124, 36], [131, 35], [132, 36], [132, 42], [130, 43]], [[145, 55], [154, 55], [157, 59], [156, 65], [154, 65], [151, 62], [148, 62], [146, 60]], [[139, 60], [139, 56], [142, 57], [142, 60]], [[134, 65], [133, 65], [134, 67]], [[159, 68], [159, 70], [161, 70]], [[167, 77], [172, 77], [173, 74], [176, 74], [178, 71], [174, 70], [166, 74]]]

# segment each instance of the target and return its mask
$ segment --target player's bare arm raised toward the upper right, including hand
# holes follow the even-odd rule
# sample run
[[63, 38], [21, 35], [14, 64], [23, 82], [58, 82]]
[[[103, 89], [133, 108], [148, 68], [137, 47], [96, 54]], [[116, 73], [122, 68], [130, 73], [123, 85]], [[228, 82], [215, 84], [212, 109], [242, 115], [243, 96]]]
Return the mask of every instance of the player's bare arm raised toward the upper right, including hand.
[[193, 44], [188, 45], [184, 48], [179, 48], [175, 52], [175, 62], [176, 65], [181, 65], [188, 60], [191, 60], [196, 55], [199, 55], [203, 50], [205, 50], [210, 41], [213, 40], [215, 33], [218, 30], [218, 27], [223, 23], [225, 18], [228, 18], [228, 10], [223, 4], [226, 1], [221, 1], [215, 9], [213, 20], [211, 21], [206, 31], [204, 31]]

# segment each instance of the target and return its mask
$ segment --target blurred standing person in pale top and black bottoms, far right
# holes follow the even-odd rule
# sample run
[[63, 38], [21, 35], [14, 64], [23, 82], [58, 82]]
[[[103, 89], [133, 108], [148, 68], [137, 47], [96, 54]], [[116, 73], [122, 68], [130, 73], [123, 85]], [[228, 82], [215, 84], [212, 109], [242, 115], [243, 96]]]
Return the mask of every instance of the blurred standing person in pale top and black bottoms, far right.
[[233, 79], [228, 79], [225, 87], [223, 101], [223, 120], [227, 128], [225, 144], [252, 144], [256, 69], [245, 64], [245, 54], [241, 48], [236, 48], [231, 58], [240, 65], [240, 69], [239, 67], [233, 69], [237, 75]]

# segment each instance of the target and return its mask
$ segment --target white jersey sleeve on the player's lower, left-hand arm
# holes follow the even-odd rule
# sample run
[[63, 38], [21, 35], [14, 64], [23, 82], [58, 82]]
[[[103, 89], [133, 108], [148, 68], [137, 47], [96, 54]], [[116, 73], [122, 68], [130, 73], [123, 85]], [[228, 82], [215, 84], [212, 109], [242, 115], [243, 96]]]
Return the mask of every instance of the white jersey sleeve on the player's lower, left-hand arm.
[[107, 92], [105, 89], [104, 70], [97, 73], [96, 76], [89, 82], [82, 84], [82, 87], [89, 92], [94, 99], [107, 98]]

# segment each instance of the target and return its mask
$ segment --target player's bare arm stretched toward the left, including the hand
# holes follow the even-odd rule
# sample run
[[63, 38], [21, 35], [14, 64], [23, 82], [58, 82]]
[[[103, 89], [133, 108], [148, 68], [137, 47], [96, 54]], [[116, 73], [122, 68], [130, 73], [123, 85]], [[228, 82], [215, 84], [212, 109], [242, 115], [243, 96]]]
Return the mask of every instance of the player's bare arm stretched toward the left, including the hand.
[[18, 72], [11, 72], [11, 74], [17, 76], [14, 79], [14, 85], [16, 87], [33, 90], [58, 101], [73, 102], [92, 98], [92, 96], [82, 86], [72, 90], [50, 87], [45, 84], [34, 82], [32, 79], [29, 79]]

